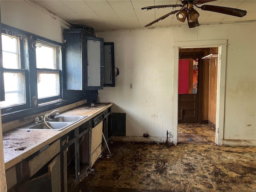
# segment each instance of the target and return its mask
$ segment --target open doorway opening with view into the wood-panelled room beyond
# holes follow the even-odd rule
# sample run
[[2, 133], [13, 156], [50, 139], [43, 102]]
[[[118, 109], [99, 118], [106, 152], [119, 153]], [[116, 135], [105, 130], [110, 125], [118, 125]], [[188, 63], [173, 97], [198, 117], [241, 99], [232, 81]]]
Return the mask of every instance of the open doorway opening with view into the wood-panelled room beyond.
[[179, 50], [178, 143], [215, 140], [218, 62], [202, 59], [209, 54], [218, 47]]

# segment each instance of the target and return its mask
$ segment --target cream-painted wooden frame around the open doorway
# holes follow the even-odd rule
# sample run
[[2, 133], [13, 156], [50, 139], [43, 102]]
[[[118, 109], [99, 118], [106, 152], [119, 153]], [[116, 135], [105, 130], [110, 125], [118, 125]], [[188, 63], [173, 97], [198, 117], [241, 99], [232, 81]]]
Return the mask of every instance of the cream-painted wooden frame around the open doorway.
[[178, 63], [180, 48], [211, 48], [218, 47], [218, 80], [217, 80], [217, 102], [216, 102], [216, 136], [215, 143], [223, 145], [224, 136], [224, 113], [226, 95], [226, 56], [227, 39], [221, 40], [198, 40], [198, 41], [176, 41], [173, 51], [173, 86], [172, 86], [172, 127], [173, 142], [178, 142]]

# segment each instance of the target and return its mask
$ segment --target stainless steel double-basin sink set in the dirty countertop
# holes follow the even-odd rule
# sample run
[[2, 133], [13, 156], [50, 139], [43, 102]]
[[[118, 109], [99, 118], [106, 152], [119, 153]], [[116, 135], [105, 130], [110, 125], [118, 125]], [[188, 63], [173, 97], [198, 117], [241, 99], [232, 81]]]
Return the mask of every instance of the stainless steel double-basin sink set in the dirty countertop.
[[[47, 120], [46, 123], [45, 122], [31, 123], [31, 124], [19, 127], [17, 129], [60, 131], [86, 117], [87, 116], [59, 115]], [[46, 124], [48, 124], [50, 128]]]

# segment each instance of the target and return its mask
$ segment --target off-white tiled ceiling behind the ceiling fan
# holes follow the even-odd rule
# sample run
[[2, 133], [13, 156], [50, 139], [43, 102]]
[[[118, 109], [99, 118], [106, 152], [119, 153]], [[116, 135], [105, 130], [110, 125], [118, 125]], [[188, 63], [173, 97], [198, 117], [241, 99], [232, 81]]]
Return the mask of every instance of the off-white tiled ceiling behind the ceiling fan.
[[[87, 25], [94, 28], [94, 31], [143, 29], [146, 24], [171, 12], [173, 8], [141, 10], [142, 7], [181, 4], [180, 0], [31, 0], [30, 2], [74, 26]], [[194, 7], [200, 13], [198, 18], [200, 25], [256, 21], [256, 0], [217, 0], [206, 4], [238, 8], [246, 10], [247, 14], [240, 18]], [[178, 21], [174, 14], [148, 28], [184, 25], [187, 26], [187, 22]]]

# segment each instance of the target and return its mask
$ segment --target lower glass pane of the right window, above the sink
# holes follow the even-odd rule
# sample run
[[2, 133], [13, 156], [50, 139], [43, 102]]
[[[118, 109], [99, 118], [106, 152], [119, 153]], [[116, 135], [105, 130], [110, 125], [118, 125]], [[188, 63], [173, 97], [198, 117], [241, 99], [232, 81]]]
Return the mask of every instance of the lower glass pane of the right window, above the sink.
[[58, 72], [37, 72], [38, 99], [60, 95], [60, 75]]

